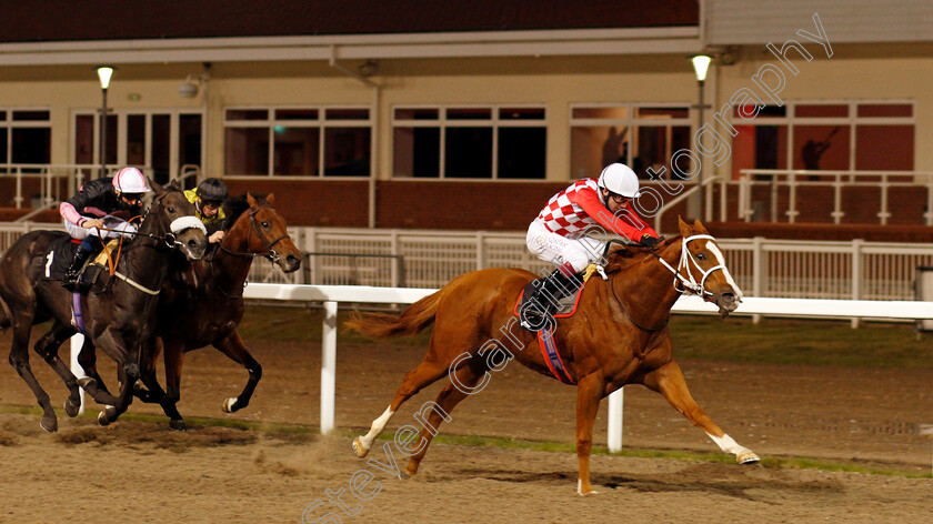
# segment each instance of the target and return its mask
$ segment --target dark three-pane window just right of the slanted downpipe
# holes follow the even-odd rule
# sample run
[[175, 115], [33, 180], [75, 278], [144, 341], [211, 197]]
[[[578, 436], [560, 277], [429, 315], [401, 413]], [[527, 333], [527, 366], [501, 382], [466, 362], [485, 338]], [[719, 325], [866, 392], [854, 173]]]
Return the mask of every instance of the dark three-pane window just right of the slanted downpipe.
[[395, 108], [393, 177], [544, 180], [543, 107]]

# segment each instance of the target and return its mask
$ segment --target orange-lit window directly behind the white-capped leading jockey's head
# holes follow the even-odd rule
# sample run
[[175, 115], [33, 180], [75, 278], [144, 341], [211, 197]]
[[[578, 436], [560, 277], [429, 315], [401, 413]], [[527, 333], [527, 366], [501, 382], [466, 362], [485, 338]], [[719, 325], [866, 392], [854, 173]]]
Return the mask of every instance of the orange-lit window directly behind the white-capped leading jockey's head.
[[629, 165], [642, 179], [649, 179], [649, 168], [670, 178], [671, 157], [691, 148], [688, 105], [573, 105], [570, 127], [573, 179], [599, 177], [612, 162]]

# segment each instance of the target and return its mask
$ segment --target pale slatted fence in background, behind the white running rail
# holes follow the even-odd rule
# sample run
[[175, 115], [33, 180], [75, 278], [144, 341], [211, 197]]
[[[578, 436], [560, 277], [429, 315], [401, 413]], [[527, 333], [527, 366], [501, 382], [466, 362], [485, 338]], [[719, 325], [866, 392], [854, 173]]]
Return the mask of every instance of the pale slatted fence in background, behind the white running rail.
[[[34, 229], [60, 224], [0, 223], [0, 252]], [[440, 288], [486, 268], [549, 264], [531, 255], [524, 233], [290, 228], [309, 256], [302, 271], [282, 274], [257, 259], [250, 282], [314, 285]], [[715, 232], [714, 232], [715, 233]], [[933, 244], [720, 239], [746, 296], [787, 299], [913, 300], [916, 268], [933, 266]]]

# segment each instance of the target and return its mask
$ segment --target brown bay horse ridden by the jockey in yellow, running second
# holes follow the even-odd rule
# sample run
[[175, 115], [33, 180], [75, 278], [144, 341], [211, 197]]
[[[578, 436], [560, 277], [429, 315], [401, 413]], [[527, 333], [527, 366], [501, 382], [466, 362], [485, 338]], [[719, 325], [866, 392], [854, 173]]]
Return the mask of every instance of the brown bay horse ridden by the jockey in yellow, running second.
[[[272, 206], [274, 198], [247, 193], [228, 201], [228, 228], [220, 248], [202, 260], [173, 266], [162, 284], [152, 339], [143, 344], [140, 376], [148, 391], [137, 390], [144, 402], [159, 403], [175, 430], [184, 430], [178, 412], [184, 353], [213, 345], [245, 367], [249, 381], [239, 396], [227, 399], [223, 411], [247, 407], [262, 376], [237, 325], [243, 319], [243, 284], [255, 256], [264, 256], [283, 272], [301, 266], [301, 251], [288, 233], [285, 220]], [[165, 390], [156, 379], [156, 361], [164, 351]], [[88, 376], [99, 380], [93, 347], [86, 344], [78, 362]]]

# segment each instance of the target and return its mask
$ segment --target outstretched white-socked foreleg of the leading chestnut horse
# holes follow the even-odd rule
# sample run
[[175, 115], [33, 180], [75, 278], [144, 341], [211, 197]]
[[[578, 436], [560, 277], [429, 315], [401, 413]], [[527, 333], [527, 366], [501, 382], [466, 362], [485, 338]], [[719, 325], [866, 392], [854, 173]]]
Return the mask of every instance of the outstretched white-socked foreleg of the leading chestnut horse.
[[713, 423], [702, 407], [696, 405], [686, 389], [686, 382], [683, 380], [683, 373], [676, 362], [669, 362], [645, 375], [644, 385], [664, 395], [664, 399], [675, 410], [683, 413], [693, 425], [706, 432], [706, 435], [720, 446], [720, 450], [735, 455], [735, 460], [740, 464], [751, 464], [760, 461], [756, 454], [748, 447], [739, 445], [720, 426]]

